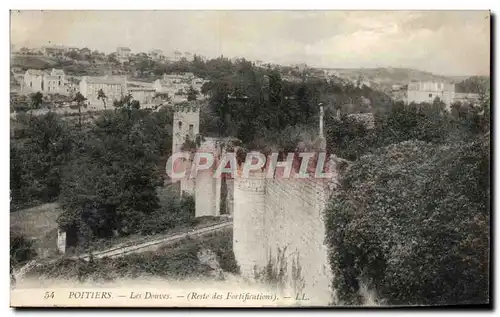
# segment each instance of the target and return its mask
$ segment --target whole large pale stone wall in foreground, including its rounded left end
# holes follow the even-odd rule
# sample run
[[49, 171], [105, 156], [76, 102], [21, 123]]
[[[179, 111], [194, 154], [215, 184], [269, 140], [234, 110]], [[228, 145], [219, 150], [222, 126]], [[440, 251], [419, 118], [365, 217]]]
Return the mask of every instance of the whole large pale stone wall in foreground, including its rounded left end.
[[255, 267], [262, 271], [269, 262], [278, 267], [278, 253], [284, 252], [287, 285], [306, 294], [307, 305], [328, 305], [328, 191], [320, 179], [235, 180], [233, 245], [242, 275], [253, 277]]

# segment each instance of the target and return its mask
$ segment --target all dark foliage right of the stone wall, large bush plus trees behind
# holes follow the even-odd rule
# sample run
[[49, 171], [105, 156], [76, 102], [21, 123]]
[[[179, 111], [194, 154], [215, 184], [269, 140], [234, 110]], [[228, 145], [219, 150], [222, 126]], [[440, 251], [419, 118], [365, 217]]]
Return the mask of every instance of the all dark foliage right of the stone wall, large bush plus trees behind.
[[327, 126], [350, 160], [327, 216], [338, 304], [485, 304], [489, 298], [490, 104], [396, 104], [368, 130]]

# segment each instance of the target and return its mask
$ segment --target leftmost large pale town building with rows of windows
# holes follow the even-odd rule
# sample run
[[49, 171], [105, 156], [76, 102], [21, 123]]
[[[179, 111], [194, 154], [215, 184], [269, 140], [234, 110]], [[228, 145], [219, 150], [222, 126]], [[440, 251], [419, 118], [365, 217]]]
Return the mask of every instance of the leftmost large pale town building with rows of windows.
[[68, 94], [66, 75], [62, 69], [53, 68], [50, 72], [28, 69], [24, 73], [22, 85], [24, 92], [42, 92], [49, 94]]

